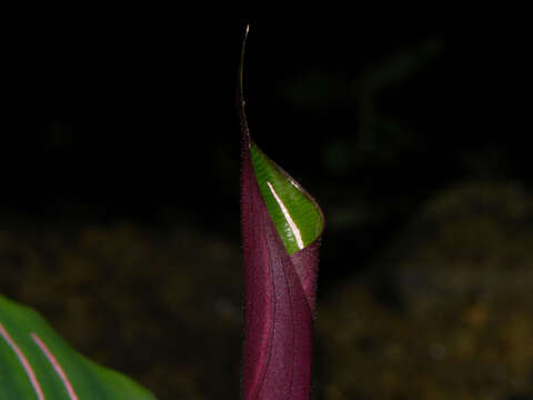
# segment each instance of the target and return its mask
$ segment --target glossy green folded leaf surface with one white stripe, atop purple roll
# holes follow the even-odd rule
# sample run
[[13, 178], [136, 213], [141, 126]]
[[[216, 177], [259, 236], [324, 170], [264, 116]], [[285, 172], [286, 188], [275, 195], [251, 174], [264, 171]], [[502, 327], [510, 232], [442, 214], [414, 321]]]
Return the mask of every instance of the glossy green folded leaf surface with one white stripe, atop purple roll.
[[289, 254], [313, 242], [324, 219], [316, 202], [300, 184], [251, 142], [252, 164], [270, 217]]

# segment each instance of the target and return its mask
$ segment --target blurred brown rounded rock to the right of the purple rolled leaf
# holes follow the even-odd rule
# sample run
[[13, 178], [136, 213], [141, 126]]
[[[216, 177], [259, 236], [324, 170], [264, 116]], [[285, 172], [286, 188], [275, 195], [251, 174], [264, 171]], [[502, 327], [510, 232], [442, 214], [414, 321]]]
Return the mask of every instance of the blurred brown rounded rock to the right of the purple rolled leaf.
[[520, 186], [494, 182], [430, 199], [371, 283], [354, 278], [320, 306], [324, 399], [532, 393], [532, 204]]

